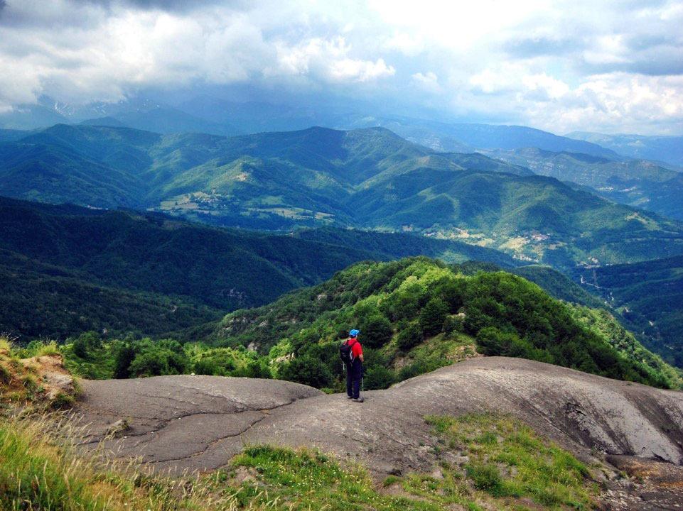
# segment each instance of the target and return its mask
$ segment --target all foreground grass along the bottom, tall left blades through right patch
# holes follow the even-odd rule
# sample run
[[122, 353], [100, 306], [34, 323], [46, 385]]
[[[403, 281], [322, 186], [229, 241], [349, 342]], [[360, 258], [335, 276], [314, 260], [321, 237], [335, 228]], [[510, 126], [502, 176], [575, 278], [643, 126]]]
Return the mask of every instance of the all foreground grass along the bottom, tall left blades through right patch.
[[[167, 478], [134, 463], [77, 456], [49, 417], [0, 422], [0, 509], [9, 511], [587, 510], [588, 469], [507, 417], [427, 417], [440, 469], [373, 480], [311, 449], [246, 446], [230, 466]], [[60, 435], [45, 432], [58, 431]], [[458, 465], [448, 451], [468, 456]], [[534, 504], [529, 504], [533, 501]]]

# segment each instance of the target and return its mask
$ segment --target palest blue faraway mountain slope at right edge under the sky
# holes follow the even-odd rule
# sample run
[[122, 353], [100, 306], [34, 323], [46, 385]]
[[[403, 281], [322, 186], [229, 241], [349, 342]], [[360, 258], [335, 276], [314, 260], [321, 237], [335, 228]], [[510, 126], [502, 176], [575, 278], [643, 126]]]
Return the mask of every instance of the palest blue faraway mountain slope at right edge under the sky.
[[630, 158], [659, 160], [683, 167], [683, 136], [606, 135], [588, 131], [574, 131], [566, 136], [600, 144]]

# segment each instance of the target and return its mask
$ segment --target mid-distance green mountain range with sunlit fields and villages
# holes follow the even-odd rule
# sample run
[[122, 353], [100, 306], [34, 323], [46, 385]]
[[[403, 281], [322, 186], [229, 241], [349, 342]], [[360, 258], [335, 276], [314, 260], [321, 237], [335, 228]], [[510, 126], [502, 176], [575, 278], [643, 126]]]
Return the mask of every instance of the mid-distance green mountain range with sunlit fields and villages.
[[0, 194], [220, 226], [413, 231], [558, 268], [683, 253], [676, 221], [384, 128], [225, 138], [57, 125], [0, 144]]

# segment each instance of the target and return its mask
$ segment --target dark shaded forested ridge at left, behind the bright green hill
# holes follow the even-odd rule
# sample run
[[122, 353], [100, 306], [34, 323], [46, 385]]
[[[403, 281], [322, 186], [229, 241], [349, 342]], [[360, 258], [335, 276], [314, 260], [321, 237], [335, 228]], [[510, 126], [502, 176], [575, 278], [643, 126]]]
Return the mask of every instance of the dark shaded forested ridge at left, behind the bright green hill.
[[[22, 340], [93, 329], [183, 330], [218, 319], [220, 310], [269, 302], [364, 258], [428, 253], [515, 265], [490, 249], [409, 234], [227, 231], [161, 214], [2, 197], [0, 234], [7, 298], [0, 331]], [[161, 314], [171, 314], [166, 327]]]

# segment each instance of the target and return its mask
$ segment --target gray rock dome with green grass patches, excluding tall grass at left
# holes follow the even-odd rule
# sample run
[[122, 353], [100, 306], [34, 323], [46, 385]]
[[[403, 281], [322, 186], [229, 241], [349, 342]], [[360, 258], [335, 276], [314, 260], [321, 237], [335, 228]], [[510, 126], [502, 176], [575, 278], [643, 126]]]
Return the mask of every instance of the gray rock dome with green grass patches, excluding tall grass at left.
[[[168, 376], [84, 382], [76, 410], [88, 424], [87, 449], [124, 461], [141, 456], [156, 473], [209, 471], [221, 488], [242, 488], [242, 502], [267, 491], [285, 500], [283, 509], [292, 502], [434, 511], [468, 502], [539, 510], [579, 500], [643, 510], [682, 503], [679, 392], [493, 357], [365, 397], [358, 405], [293, 383]], [[107, 437], [121, 417], [131, 417], [127, 429]]]

